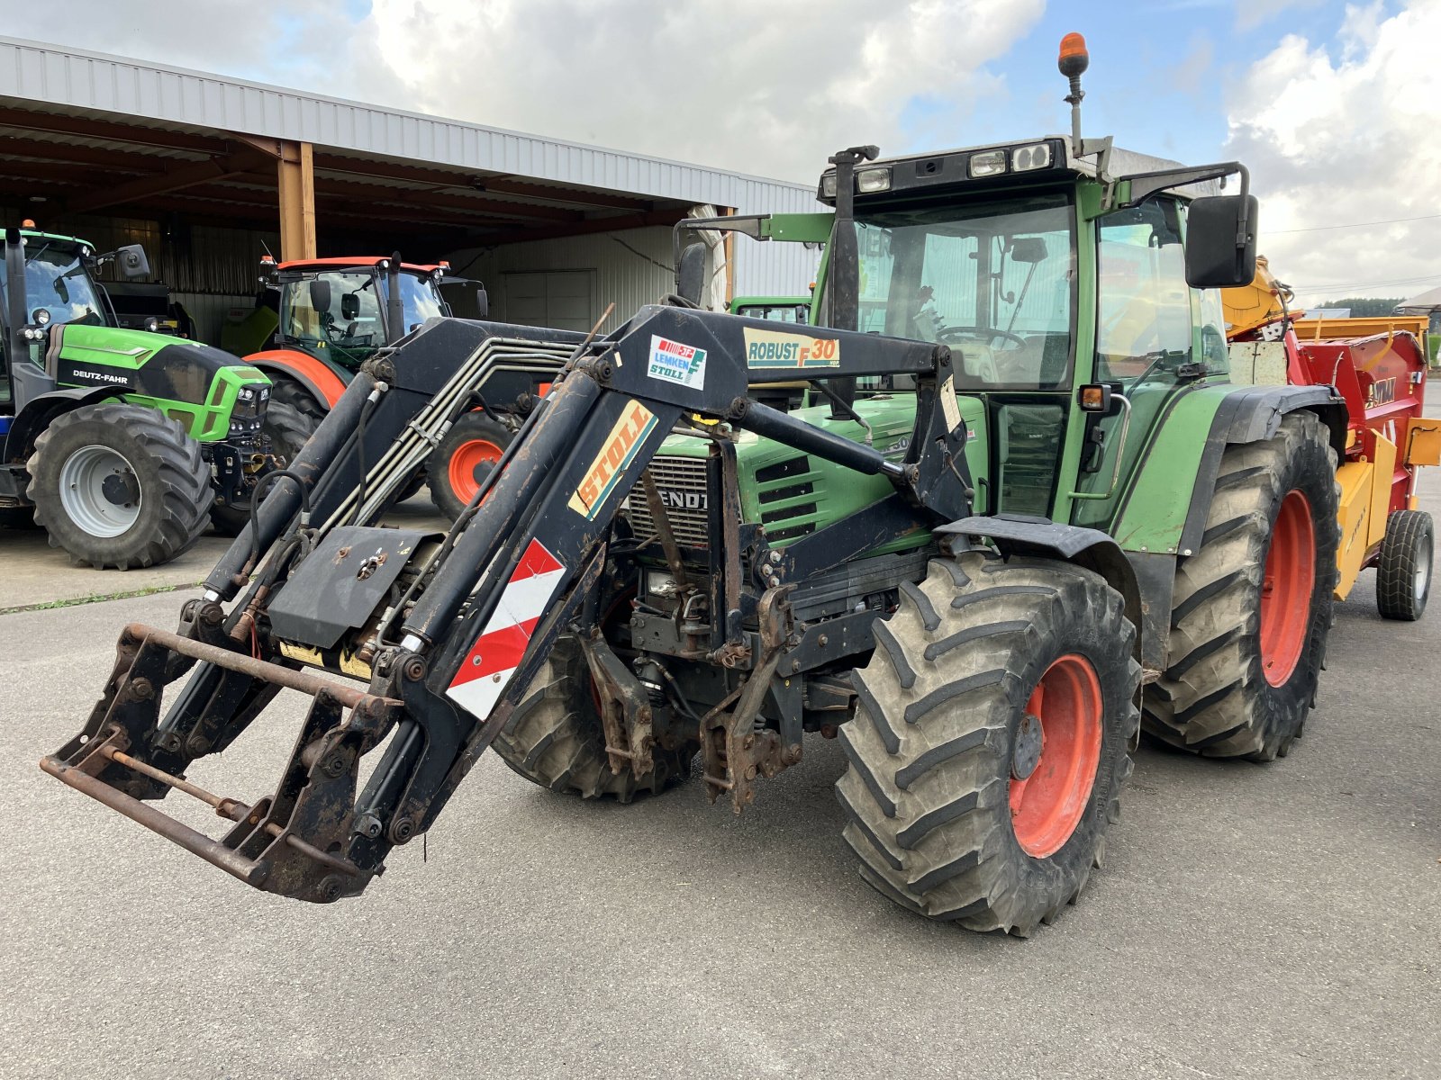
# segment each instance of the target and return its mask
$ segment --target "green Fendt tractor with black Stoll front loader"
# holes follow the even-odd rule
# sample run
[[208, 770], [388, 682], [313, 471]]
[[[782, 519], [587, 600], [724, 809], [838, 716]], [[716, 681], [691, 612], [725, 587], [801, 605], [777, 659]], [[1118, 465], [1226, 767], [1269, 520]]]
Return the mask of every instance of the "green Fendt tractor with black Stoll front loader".
[[[1068, 37], [1069, 137], [850, 148], [820, 181], [833, 213], [739, 222], [824, 222], [820, 325], [697, 310], [692, 245], [676, 295], [608, 337], [442, 318], [369, 360], [258, 544], [177, 632], [124, 629], [42, 768], [251, 886], [331, 901], [487, 747], [582, 798], [695, 772], [741, 812], [807, 733], [839, 734], [870, 884], [976, 930], [1050, 922], [1101, 863], [1143, 724], [1258, 760], [1301, 733], [1346, 438], [1330, 387], [1226, 382], [1245, 168], [1112, 176], [1110, 141], [1081, 138], [1085, 65]], [[1186, 190], [1218, 177], [1239, 193]], [[856, 330], [862, 282], [879, 333]], [[517, 356], [563, 370], [451, 530], [379, 527]], [[757, 400], [794, 382], [820, 403]], [[272, 793], [183, 779], [282, 687], [311, 704]], [[173, 789], [223, 838], [151, 805]]]

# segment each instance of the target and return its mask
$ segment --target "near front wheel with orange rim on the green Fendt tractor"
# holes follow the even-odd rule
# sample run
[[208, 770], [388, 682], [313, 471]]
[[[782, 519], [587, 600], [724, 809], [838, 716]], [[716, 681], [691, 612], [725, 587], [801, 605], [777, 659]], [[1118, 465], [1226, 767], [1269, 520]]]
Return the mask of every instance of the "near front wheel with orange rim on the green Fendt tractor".
[[1026, 936], [1101, 864], [1140, 716], [1136, 628], [1098, 575], [934, 560], [853, 674], [836, 783], [860, 876], [904, 907]]

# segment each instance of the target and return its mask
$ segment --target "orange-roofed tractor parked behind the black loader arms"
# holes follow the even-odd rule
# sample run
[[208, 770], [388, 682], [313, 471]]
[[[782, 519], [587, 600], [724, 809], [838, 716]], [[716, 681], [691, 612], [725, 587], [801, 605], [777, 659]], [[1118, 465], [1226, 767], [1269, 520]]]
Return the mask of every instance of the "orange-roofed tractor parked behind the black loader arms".
[[[272, 348], [245, 357], [275, 383], [275, 399], [300, 410], [313, 429], [334, 408], [366, 360], [393, 346], [428, 318], [451, 314], [442, 284], [460, 284], [448, 262], [402, 262], [386, 256], [261, 262], [261, 281], [280, 291], [280, 330]], [[484, 289], [480, 304], [487, 305]], [[455, 419], [441, 436], [428, 474], [409, 494], [429, 484], [437, 510], [455, 520], [500, 459], [520, 419], [535, 408], [553, 370], [526, 376], [504, 397], [493, 382], [488, 399]]]

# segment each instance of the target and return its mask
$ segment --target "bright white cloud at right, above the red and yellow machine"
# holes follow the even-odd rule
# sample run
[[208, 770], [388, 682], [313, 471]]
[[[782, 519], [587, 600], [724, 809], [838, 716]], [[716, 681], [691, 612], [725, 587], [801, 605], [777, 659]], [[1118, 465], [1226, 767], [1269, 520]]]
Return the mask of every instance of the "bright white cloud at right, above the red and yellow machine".
[[1334, 45], [1288, 35], [1235, 88], [1228, 151], [1251, 166], [1261, 251], [1301, 302], [1441, 282], [1438, 219], [1293, 232], [1438, 212], [1438, 40], [1441, 0], [1353, 6]]

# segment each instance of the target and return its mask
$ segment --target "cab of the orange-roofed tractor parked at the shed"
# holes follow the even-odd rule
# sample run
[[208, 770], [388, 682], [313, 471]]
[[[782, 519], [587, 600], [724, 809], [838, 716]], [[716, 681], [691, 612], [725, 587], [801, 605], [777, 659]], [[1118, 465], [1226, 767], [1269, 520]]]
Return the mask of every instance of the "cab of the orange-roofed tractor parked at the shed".
[[354, 372], [378, 348], [429, 318], [450, 315], [440, 285], [450, 264], [415, 265], [363, 256], [262, 264], [280, 289], [280, 348]]

